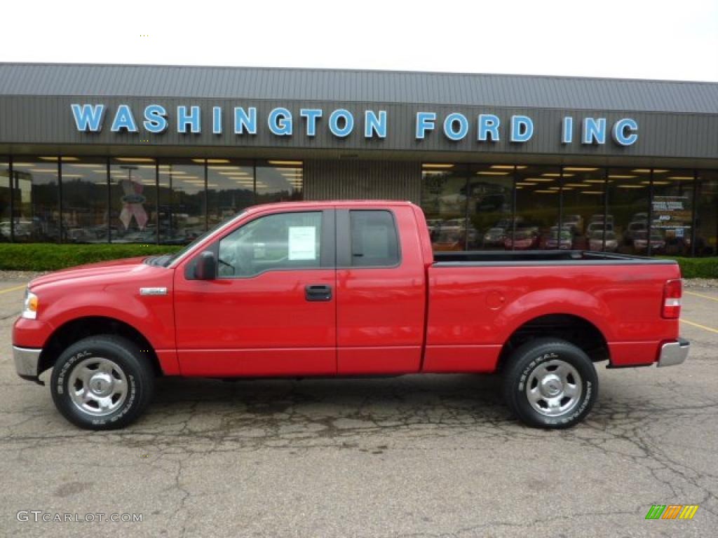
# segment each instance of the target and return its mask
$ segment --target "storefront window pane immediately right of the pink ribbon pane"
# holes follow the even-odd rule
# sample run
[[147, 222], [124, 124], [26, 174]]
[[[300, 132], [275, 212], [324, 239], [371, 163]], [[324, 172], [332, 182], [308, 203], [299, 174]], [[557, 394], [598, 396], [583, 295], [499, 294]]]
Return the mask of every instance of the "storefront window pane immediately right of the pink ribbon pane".
[[159, 164], [159, 242], [184, 245], [206, 229], [205, 165], [179, 159], [162, 161]]

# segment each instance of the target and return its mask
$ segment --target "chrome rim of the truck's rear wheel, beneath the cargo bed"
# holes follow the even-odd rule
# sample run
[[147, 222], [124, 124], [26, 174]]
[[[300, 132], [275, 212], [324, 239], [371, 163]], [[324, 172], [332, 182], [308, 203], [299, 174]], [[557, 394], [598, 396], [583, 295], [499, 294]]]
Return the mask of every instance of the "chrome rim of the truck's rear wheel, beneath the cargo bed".
[[581, 376], [571, 364], [553, 359], [539, 364], [526, 380], [526, 397], [533, 410], [546, 417], [565, 415], [583, 392]]

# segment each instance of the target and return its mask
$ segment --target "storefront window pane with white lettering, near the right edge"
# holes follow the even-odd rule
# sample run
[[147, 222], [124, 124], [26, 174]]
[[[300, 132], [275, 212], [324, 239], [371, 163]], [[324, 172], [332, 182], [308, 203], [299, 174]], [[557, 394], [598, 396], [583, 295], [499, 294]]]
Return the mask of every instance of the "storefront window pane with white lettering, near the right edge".
[[651, 254], [691, 253], [693, 188], [692, 170], [653, 170]]

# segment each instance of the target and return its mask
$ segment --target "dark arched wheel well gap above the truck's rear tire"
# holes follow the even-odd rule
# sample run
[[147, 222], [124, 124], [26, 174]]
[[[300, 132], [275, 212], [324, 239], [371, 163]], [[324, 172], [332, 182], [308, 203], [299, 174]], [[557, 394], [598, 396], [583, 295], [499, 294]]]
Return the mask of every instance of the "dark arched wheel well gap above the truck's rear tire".
[[537, 337], [554, 337], [579, 347], [593, 362], [610, 358], [608, 344], [601, 331], [590, 321], [571, 314], [550, 314], [527, 321], [506, 341], [498, 359], [498, 369], [503, 367], [511, 352], [527, 341]]

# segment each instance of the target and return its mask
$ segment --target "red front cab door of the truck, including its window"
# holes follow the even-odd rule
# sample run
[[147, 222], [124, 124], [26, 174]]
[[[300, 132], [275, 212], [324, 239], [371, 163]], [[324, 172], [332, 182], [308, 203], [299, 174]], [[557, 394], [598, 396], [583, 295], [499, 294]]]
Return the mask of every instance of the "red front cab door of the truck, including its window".
[[174, 277], [187, 376], [336, 374], [335, 212], [261, 213], [213, 242], [215, 278], [195, 253]]

